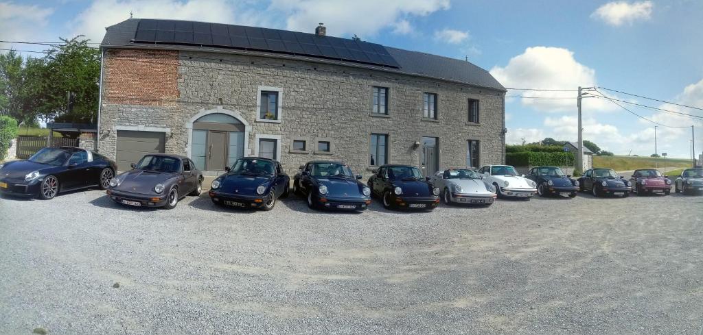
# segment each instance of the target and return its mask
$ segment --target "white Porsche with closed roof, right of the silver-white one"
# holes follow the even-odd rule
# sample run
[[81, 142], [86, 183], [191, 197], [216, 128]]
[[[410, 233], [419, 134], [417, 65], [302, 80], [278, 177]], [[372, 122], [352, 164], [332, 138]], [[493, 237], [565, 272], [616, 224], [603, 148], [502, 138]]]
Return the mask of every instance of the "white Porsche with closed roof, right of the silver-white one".
[[486, 185], [496, 188], [498, 197], [529, 199], [537, 192], [537, 184], [518, 175], [515, 167], [510, 165], [486, 165], [481, 167], [479, 174], [483, 175]]

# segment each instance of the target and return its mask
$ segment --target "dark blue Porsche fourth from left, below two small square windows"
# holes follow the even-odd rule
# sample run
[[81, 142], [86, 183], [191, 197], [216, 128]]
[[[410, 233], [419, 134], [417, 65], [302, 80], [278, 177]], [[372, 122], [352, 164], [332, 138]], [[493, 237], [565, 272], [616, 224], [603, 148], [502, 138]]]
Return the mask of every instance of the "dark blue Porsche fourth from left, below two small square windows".
[[371, 190], [354, 177], [349, 166], [329, 161], [313, 161], [300, 166], [293, 179], [293, 191], [307, 197], [308, 207], [335, 210], [366, 210]]

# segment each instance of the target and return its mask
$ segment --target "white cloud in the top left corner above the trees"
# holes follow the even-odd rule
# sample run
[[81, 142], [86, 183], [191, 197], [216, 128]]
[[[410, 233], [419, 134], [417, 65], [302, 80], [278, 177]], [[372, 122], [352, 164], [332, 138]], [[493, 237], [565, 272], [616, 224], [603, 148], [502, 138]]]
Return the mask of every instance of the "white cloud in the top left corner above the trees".
[[[37, 41], [43, 39], [39, 28], [46, 27], [52, 13], [53, 8], [44, 6], [0, 2], [0, 40]], [[54, 40], [57, 39], [54, 38], [52, 41]], [[12, 46], [18, 48], [17, 45]], [[10, 47], [10, 43], [0, 43], [0, 48]]]

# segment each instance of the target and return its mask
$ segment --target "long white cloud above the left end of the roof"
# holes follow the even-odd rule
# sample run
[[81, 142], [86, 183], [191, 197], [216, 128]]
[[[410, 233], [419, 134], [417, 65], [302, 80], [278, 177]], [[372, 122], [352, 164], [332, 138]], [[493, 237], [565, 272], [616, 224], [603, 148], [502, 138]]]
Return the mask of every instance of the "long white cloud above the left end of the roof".
[[100, 42], [105, 35], [105, 27], [127, 20], [130, 11], [134, 13], [134, 18], [257, 25], [261, 14], [245, 8], [242, 4], [238, 7], [226, 0], [95, 0], [69, 26], [73, 35], [83, 34], [93, 42]]

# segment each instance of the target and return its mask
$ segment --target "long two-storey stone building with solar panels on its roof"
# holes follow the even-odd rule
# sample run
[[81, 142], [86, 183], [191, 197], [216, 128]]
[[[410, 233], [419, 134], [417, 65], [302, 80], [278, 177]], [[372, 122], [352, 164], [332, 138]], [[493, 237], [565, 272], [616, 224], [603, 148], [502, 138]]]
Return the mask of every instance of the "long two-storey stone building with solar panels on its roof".
[[98, 151], [216, 174], [241, 156], [431, 173], [503, 163], [505, 89], [470, 62], [316, 34], [129, 19], [107, 28]]

